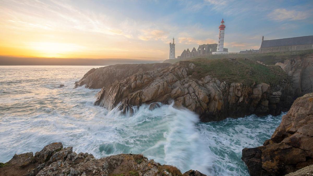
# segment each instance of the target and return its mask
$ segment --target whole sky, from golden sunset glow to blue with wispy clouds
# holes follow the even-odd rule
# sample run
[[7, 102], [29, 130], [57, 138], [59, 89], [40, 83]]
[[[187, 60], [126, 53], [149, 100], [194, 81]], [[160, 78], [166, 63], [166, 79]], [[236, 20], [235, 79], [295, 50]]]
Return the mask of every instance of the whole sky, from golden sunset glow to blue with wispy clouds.
[[0, 56], [166, 60], [173, 37], [176, 57], [217, 43], [222, 18], [229, 52], [313, 35], [312, 0], [0, 0]]

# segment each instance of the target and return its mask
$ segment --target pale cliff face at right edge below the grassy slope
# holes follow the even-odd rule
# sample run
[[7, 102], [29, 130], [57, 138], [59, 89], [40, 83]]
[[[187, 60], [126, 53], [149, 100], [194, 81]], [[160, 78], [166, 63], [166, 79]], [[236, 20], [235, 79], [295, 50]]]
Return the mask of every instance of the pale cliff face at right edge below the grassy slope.
[[295, 97], [313, 92], [313, 54], [276, 63], [290, 76]]

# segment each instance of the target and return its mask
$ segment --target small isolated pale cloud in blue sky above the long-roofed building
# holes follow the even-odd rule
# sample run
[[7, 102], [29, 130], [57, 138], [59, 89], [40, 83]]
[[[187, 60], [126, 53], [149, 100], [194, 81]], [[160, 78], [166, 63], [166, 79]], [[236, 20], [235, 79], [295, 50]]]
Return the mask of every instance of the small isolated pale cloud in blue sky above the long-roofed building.
[[268, 14], [268, 17], [275, 21], [284, 21], [284, 20], [302, 20], [310, 17], [308, 12], [296, 11], [296, 10], [287, 10], [285, 8], [277, 8]]

